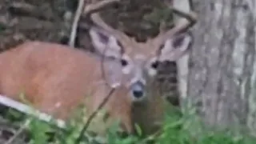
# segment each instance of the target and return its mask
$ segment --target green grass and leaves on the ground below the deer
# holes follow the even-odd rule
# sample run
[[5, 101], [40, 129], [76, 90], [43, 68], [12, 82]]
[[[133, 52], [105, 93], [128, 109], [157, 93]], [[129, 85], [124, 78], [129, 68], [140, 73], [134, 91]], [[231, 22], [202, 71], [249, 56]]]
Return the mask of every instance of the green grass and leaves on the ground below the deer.
[[[78, 113], [81, 115], [81, 113]], [[60, 130], [49, 123], [30, 118], [28, 131], [30, 144], [74, 144], [82, 127], [82, 121], [75, 116], [70, 120], [66, 130]], [[10, 115], [9, 115], [10, 117]], [[17, 118], [17, 114], [15, 114]], [[27, 118], [26, 118], [27, 120]], [[256, 138], [249, 134], [241, 134], [238, 130], [208, 130], [194, 114], [182, 114], [170, 109], [166, 112], [165, 124], [158, 135], [129, 136], [122, 138], [118, 135], [118, 122], [110, 127], [105, 139], [86, 134], [80, 144], [100, 144], [104, 140], [110, 144], [146, 144], [154, 140], [155, 144], [254, 144]], [[141, 130], [138, 127], [138, 134]]]

